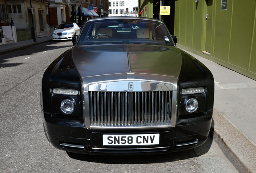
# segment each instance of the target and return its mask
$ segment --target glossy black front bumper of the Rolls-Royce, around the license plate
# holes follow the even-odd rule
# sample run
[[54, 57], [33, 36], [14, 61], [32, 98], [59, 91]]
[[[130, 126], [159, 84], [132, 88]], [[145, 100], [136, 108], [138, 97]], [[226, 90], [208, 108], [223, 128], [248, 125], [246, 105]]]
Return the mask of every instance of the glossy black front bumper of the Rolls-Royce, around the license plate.
[[[146, 155], [192, 149], [208, 138], [211, 118], [204, 122], [159, 129], [86, 129], [82, 119], [66, 121], [43, 113], [47, 139], [54, 147], [91, 155]], [[159, 145], [103, 146], [102, 135], [159, 134]]]

